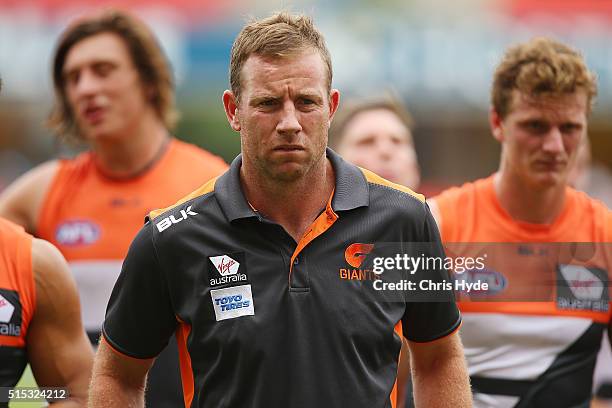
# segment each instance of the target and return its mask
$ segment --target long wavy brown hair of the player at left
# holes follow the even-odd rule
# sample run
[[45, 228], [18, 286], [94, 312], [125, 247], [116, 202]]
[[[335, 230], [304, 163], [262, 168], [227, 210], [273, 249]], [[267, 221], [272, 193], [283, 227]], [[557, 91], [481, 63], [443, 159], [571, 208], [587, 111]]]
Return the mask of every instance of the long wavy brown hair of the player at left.
[[68, 141], [82, 141], [74, 112], [66, 97], [64, 64], [73, 46], [102, 33], [117, 34], [125, 43], [143, 86], [152, 90], [150, 103], [166, 128], [172, 129], [178, 119], [174, 105], [174, 78], [170, 63], [151, 30], [138, 18], [115, 9], [75, 21], [60, 37], [53, 58], [55, 106], [48, 125]]

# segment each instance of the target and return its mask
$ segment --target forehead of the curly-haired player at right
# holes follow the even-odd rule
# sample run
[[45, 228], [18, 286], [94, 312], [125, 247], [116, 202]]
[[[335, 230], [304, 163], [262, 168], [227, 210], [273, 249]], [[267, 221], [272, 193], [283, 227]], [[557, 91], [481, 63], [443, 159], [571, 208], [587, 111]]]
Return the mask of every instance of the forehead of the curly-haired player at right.
[[533, 97], [516, 90], [512, 93], [509, 113], [515, 117], [538, 116], [550, 120], [586, 120], [587, 114], [586, 91]]

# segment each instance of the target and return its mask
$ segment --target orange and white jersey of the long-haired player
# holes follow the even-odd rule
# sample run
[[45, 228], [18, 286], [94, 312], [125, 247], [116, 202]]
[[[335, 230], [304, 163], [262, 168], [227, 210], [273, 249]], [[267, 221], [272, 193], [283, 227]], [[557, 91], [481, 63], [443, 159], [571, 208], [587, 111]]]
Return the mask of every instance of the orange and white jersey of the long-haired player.
[[128, 180], [105, 176], [91, 152], [60, 162], [36, 232], [68, 260], [88, 332], [102, 326], [123, 258], [144, 217], [226, 169], [221, 158], [176, 139], [150, 169]]

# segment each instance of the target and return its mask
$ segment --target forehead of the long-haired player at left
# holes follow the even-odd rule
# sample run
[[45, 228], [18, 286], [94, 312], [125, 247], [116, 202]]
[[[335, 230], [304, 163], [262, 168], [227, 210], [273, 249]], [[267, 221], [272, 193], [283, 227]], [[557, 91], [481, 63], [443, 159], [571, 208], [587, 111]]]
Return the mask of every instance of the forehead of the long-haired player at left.
[[63, 72], [96, 62], [133, 65], [123, 39], [115, 33], [103, 32], [74, 44], [66, 55]]

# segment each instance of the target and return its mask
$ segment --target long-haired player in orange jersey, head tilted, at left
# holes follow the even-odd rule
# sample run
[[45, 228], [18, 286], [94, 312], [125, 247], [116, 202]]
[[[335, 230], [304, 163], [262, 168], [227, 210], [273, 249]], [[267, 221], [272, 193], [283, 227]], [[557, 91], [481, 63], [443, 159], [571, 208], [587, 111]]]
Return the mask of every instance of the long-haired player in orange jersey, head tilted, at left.
[[[227, 166], [171, 136], [171, 69], [151, 31], [133, 16], [110, 10], [69, 26], [55, 52], [53, 83], [51, 126], [89, 150], [22, 176], [0, 196], [0, 215], [62, 251], [79, 288], [85, 328], [97, 343], [144, 216]], [[150, 407], [182, 403], [175, 345], [158, 358], [147, 395]]]

